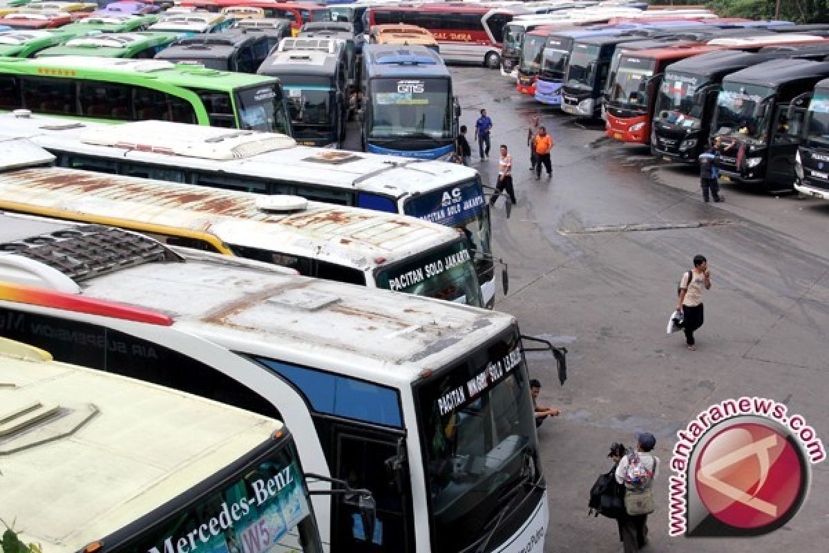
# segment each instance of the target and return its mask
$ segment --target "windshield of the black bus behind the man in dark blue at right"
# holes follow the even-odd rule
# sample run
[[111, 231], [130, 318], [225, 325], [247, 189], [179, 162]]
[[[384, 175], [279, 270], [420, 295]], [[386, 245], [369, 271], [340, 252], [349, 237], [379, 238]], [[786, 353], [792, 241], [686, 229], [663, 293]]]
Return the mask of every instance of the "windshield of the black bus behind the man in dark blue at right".
[[739, 135], [764, 143], [768, 138], [768, 100], [774, 89], [761, 85], [725, 83], [717, 96], [715, 134]]

